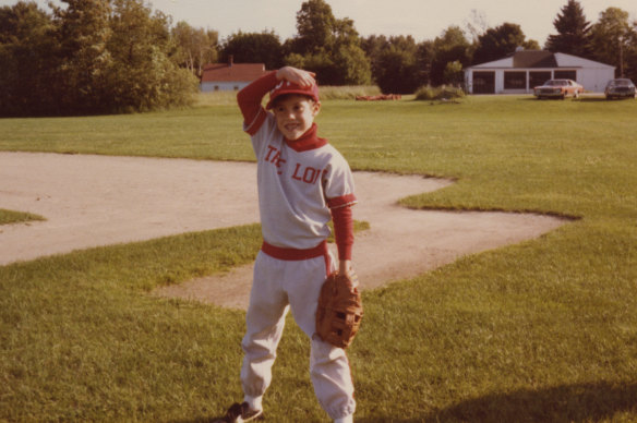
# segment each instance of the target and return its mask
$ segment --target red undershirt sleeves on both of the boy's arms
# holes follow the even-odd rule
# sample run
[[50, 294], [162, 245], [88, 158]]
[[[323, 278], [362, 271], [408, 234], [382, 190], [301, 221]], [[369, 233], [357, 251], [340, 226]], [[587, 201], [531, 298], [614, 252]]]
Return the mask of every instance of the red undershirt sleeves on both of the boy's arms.
[[[252, 82], [244, 87], [237, 95], [237, 102], [243, 121], [247, 125], [247, 131], [254, 134], [261, 123], [257, 122], [260, 113], [265, 113], [261, 106], [263, 97], [275, 87], [278, 83], [276, 72], [268, 72], [259, 80]], [[265, 116], [265, 114], [263, 114]], [[338, 247], [339, 259], [351, 259], [351, 251], [353, 245], [353, 218], [351, 206], [342, 206], [332, 208], [332, 220], [334, 221], [334, 238], [336, 239], [336, 246]]]

